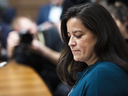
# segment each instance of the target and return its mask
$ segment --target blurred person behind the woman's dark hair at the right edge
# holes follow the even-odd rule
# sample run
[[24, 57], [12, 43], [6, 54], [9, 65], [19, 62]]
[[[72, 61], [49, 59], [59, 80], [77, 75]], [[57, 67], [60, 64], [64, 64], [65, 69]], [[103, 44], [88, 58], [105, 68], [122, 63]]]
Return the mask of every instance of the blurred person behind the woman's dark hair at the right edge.
[[114, 5], [109, 5], [107, 7], [108, 11], [114, 18], [119, 30], [124, 37], [125, 41], [128, 43], [128, 8], [122, 2], [115, 2]]

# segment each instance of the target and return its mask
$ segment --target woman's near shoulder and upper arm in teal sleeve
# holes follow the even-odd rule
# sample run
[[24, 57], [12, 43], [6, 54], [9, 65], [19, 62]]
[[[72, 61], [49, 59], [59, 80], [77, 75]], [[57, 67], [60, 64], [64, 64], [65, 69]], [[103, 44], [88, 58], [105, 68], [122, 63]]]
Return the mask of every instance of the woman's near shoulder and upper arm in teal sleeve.
[[[128, 94], [128, 75], [112, 62], [100, 62], [88, 74], [86, 87], [86, 96], [95, 96], [96, 93], [98, 96]], [[92, 92], [94, 94], [90, 95]]]

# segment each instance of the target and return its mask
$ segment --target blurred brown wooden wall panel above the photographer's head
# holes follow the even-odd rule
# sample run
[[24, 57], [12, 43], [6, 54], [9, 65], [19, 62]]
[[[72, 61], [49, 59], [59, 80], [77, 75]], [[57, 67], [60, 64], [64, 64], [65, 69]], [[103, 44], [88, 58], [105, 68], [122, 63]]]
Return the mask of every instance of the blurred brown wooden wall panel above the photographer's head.
[[49, 0], [9, 0], [9, 6], [17, 10], [17, 15], [30, 15], [36, 20], [39, 7]]

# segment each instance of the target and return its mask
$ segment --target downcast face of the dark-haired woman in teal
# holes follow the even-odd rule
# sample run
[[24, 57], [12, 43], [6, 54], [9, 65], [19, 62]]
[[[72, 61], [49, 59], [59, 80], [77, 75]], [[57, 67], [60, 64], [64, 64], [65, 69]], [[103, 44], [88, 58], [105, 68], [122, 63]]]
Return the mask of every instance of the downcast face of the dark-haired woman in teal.
[[84, 27], [80, 19], [71, 18], [67, 21], [67, 34], [70, 38], [68, 45], [75, 61], [85, 62], [88, 65], [97, 61], [94, 52], [97, 37]]

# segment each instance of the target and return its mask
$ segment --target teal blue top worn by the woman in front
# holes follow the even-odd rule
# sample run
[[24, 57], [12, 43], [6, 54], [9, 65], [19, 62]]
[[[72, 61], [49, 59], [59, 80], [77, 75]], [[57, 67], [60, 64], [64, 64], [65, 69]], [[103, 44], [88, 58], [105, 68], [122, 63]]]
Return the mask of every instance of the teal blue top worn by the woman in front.
[[128, 74], [112, 62], [99, 60], [79, 75], [68, 96], [128, 96]]

